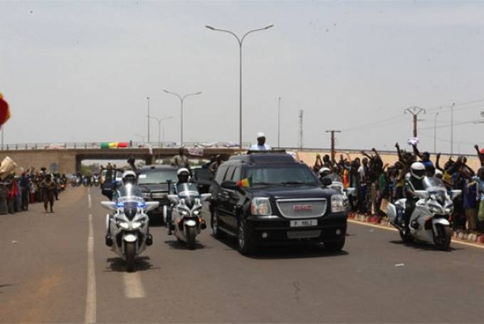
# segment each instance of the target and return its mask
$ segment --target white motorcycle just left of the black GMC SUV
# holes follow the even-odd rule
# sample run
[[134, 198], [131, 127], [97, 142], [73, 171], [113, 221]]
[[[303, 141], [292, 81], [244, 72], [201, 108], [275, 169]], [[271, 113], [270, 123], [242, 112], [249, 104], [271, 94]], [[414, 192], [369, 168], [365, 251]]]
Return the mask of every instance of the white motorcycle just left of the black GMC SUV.
[[172, 207], [171, 211], [164, 207], [165, 223], [167, 223], [167, 214], [171, 212], [174, 236], [179, 241], [185, 242], [188, 249], [195, 249], [196, 236], [202, 229], [206, 229], [206, 223], [201, 214], [203, 202], [209, 200], [211, 194], [199, 194], [196, 184], [184, 183], [177, 184], [177, 194], [169, 194], [168, 198], [172, 202]]

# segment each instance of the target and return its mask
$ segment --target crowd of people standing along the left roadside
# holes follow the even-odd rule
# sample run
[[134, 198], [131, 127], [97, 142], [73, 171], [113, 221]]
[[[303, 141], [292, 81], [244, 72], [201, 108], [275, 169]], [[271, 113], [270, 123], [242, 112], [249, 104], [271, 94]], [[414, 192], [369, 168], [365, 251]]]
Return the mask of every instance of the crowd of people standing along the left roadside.
[[21, 174], [12, 172], [0, 181], [0, 214], [27, 211], [36, 202], [43, 203], [44, 210], [53, 213], [54, 201], [67, 182], [65, 174], [51, 174], [44, 167]]

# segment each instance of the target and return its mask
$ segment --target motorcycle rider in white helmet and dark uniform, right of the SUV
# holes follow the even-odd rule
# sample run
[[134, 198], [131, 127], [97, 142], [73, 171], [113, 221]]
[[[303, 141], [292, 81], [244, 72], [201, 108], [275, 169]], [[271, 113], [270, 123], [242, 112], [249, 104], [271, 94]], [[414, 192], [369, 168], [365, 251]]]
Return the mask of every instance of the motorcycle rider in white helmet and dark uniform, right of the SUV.
[[406, 197], [405, 203], [405, 214], [404, 214], [404, 234], [408, 233], [409, 231], [409, 223], [411, 214], [414, 212], [416, 202], [419, 201], [419, 197], [416, 197], [416, 190], [424, 190], [423, 187], [423, 178], [426, 175], [426, 168], [422, 162], [414, 162], [411, 164], [410, 173], [407, 174], [405, 185], [404, 185], [404, 193]]

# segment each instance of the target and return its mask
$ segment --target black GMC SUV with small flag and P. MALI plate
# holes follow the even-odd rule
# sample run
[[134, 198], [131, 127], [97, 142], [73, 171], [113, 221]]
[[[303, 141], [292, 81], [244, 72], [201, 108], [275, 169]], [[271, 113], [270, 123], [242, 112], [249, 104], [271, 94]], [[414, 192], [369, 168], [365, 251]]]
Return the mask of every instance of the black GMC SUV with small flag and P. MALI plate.
[[322, 184], [306, 164], [285, 152], [248, 152], [219, 167], [211, 186], [211, 227], [216, 239], [237, 238], [241, 254], [257, 246], [323, 242], [344, 246], [343, 197]]

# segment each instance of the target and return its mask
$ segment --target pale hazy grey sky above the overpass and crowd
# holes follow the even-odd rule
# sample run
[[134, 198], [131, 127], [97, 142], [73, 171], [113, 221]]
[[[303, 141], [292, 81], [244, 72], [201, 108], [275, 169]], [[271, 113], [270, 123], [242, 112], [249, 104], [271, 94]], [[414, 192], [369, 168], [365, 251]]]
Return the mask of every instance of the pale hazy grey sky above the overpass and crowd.
[[[147, 136], [147, 97], [164, 141], [238, 142], [242, 35], [243, 140], [268, 144], [473, 152], [484, 144], [484, 1], [0, 1], [0, 92], [6, 143], [105, 142]], [[436, 113], [438, 116], [436, 117]], [[436, 118], [436, 119], [435, 119]], [[484, 120], [484, 119], [483, 119]], [[151, 122], [151, 140], [158, 138]]]

